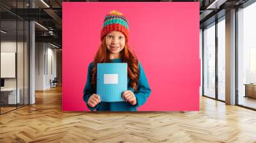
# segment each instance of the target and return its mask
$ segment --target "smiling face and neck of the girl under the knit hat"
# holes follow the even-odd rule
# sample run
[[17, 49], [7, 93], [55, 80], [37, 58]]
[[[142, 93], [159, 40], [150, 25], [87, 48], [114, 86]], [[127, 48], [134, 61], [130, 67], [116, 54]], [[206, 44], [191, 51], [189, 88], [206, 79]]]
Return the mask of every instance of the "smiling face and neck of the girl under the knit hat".
[[110, 59], [116, 59], [120, 57], [120, 52], [125, 46], [125, 36], [119, 31], [111, 31], [105, 38], [106, 46], [109, 51]]

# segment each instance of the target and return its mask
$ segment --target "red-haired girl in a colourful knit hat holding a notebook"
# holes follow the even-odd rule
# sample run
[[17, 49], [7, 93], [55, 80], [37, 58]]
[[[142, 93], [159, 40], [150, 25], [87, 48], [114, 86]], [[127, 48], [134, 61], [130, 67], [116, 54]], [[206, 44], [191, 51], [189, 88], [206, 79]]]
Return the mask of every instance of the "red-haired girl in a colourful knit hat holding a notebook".
[[[101, 45], [94, 61], [88, 67], [83, 100], [90, 110], [136, 111], [151, 93], [147, 78], [134, 52], [128, 46], [128, 21], [118, 11], [111, 11], [104, 19]], [[97, 63], [127, 63], [127, 91], [122, 93], [125, 102], [100, 102], [96, 93]]]

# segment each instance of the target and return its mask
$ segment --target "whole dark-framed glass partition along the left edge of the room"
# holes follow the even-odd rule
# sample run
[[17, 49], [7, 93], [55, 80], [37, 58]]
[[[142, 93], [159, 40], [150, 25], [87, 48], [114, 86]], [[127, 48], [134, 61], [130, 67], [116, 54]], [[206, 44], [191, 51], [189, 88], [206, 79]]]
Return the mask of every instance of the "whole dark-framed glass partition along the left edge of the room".
[[22, 12], [29, 1], [0, 1], [0, 114], [29, 103], [29, 22]]

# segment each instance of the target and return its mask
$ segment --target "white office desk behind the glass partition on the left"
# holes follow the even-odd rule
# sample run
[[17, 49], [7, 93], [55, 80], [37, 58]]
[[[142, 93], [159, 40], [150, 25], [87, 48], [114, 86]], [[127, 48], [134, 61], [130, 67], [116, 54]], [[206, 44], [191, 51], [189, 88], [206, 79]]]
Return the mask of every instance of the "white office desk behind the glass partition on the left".
[[1, 89], [1, 102], [4, 104], [16, 104], [20, 103], [20, 89], [17, 88], [18, 94], [16, 98], [16, 88], [4, 88]]

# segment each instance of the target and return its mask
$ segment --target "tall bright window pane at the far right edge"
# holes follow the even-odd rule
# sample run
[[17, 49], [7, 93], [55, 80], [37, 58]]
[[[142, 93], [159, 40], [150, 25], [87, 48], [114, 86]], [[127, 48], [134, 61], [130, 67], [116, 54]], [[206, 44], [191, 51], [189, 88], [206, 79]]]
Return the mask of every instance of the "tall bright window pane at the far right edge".
[[256, 3], [237, 11], [238, 104], [256, 109]]

